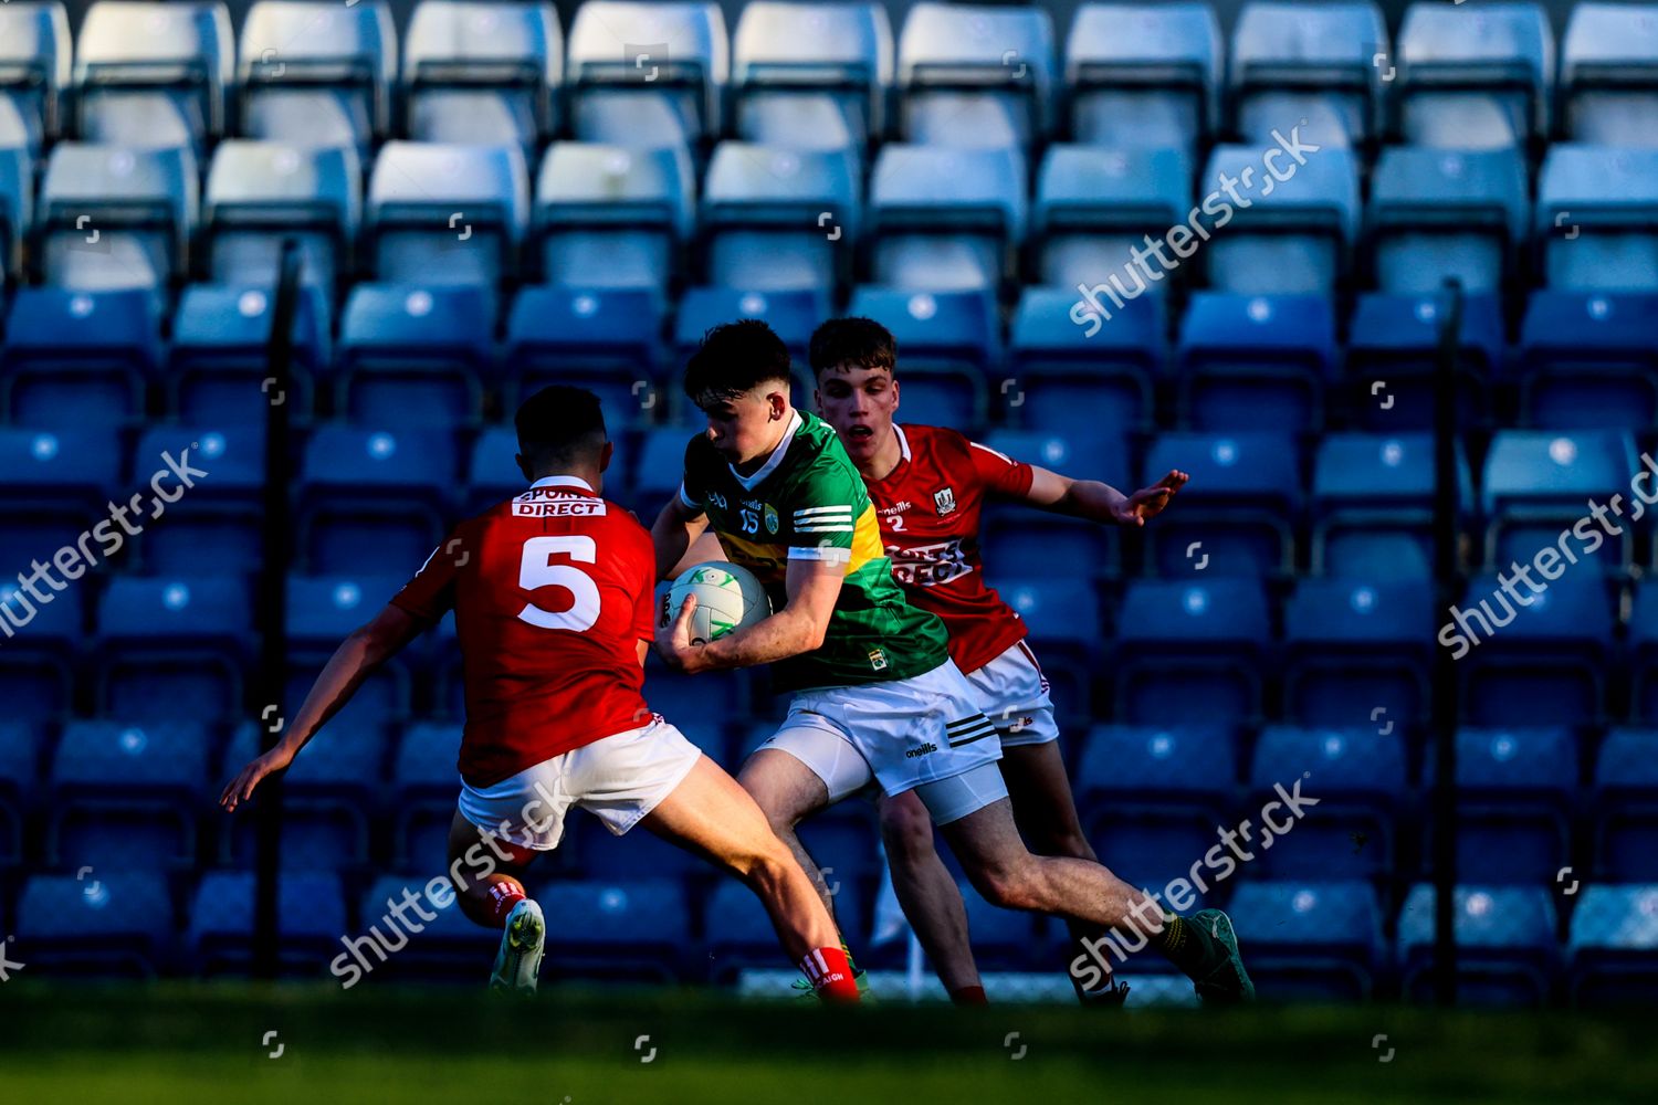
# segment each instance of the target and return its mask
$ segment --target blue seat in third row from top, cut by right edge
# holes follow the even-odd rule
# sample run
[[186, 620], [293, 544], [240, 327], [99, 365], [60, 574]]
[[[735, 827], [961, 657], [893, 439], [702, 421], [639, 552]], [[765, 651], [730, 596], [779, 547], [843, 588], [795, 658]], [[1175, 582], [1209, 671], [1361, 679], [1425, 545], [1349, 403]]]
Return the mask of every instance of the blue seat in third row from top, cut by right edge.
[[1520, 323], [1520, 421], [1643, 431], [1658, 422], [1658, 295], [1532, 292]]

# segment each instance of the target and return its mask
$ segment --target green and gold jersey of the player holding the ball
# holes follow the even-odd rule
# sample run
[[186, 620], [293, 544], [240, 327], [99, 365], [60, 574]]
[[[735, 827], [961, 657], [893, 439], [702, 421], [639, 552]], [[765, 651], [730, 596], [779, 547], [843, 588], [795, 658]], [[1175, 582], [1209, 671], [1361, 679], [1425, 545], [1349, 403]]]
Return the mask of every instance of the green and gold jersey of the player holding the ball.
[[778, 691], [909, 679], [950, 658], [943, 623], [909, 603], [892, 578], [875, 509], [834, 429], [794, 413], [753, 475], [738, 475], [698, 436], [685, 449], [680, 499], [708, 514], [726, 557], [759, 578], [781, 610], [789, 560], [846, 563], [822, 648], [773, 664]]

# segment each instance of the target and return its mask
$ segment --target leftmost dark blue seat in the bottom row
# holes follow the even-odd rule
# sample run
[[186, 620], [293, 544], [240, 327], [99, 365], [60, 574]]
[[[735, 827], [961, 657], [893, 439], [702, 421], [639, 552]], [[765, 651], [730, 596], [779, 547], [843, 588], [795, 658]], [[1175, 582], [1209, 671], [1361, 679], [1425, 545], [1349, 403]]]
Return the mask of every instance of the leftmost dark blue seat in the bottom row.
[[17, 905], [12, 954], [55, 977], [156, 977], [172, 961], [172, 900], [159, 871], [33, 875]]

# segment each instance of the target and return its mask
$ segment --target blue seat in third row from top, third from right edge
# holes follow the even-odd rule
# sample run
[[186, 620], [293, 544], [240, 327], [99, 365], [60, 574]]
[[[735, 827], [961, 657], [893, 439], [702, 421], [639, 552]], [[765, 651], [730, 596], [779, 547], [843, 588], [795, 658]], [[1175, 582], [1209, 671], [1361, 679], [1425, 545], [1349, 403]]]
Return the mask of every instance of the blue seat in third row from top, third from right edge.
[[1180, 321], [1180, 417], [1194, 429], [1323, 424], [1336, 320], [1321, 295], [1199, 292]]

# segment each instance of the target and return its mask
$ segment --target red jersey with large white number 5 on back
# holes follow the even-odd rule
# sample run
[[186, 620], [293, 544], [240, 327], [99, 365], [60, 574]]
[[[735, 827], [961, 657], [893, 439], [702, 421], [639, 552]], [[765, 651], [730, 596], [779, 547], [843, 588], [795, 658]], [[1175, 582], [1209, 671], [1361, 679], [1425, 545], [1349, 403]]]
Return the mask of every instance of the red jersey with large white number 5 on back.
[[391, 601], [421, 621], [454, 610], [468, 784], [650, 722], [638, 643], [653, 635], [655, 578], [645, 527], [570, 475], [449, 532]]

